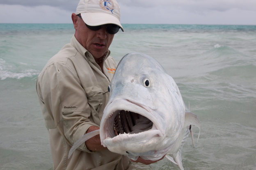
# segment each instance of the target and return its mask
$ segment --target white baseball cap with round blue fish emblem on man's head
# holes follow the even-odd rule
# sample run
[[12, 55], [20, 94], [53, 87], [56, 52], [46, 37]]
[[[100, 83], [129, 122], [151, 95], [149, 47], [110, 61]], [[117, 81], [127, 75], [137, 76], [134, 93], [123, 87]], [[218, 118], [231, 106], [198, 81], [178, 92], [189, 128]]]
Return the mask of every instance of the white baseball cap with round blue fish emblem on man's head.
[[124, 31], [120, 23], [120, 7], [116, 0], [80, 0], [75, 14], [81, 14], [87, 25], [115, 24]]

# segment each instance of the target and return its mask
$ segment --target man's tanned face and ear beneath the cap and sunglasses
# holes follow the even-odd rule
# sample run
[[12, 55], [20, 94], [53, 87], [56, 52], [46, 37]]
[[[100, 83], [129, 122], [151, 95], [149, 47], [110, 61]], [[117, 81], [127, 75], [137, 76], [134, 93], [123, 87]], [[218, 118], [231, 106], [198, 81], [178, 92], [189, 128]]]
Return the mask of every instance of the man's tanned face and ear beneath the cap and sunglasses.
[[97, 31], [92, 31], [87, 28], [85, 22], [81, 18], [78, 16], [73, 17], [77, 17], [77, 27], [75, 27], [74, 24], [75, 38], [92, 54], [92, 56], [94, 56], [94, 58], [102, 57], [108, 50], [114, 38], [114, 34], [107, 33], [105, 27], [101, 27], [101, 29]]

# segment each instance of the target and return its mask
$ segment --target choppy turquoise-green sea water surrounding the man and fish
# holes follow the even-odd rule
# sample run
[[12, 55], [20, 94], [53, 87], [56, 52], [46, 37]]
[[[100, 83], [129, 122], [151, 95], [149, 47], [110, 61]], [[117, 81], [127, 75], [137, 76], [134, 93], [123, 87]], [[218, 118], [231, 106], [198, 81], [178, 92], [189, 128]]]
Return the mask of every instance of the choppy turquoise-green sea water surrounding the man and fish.
[[[256, 26], [123, 25], [110, 46], [157, 59], [197, 114], [185, 170], [256, 170]], [[52, 157], [36, 93], [46, 62], [74, 34], [71, 24], [0, 24], [0, 170], [50, 170]], [[198, 128], [194, 127], [194, 138]], [[136, 169], [178, 170], [163, 159]]]

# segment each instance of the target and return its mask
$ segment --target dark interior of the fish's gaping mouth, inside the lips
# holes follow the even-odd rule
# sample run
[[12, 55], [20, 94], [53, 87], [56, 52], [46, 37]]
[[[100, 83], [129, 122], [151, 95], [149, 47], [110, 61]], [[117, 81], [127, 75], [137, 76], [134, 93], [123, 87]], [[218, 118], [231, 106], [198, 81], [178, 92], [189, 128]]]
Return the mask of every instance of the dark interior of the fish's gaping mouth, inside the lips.
[[115, 136], [124, 133], [137, 134], [153, 127], [151, 120], [135, 112], [117, 110], [113, 113], [113, 116], [115, 116], [113, 127]]

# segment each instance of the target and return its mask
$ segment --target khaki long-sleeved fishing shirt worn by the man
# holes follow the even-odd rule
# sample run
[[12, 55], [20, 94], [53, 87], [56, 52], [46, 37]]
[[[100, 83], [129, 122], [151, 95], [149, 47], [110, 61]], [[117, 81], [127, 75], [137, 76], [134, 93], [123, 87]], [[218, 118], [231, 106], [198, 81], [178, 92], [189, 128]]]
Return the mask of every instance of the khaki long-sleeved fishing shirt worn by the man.
[[103, 72], [94, 57], [72, 37], [51, 58], [37, 79], [37, 93], [48, 129], [54, 170], [125, 170], [129, 159], [109, 150], [92, 152], [85, 143], [68, 159], [71, 146], [90, 126], [100, 126], [117, 67], [109, 56]]

